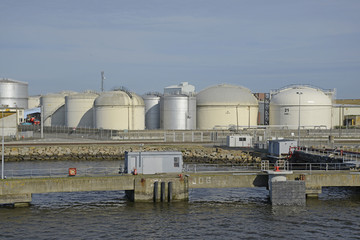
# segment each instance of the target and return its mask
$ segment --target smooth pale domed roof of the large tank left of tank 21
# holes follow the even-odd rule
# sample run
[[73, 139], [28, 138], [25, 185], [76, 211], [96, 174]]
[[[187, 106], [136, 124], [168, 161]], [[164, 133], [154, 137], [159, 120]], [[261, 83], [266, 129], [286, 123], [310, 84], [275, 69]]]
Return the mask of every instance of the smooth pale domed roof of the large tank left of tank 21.
[[196, 95], [197, 105], [258, 105], [250, 89], [220, 84], [208, 87]]

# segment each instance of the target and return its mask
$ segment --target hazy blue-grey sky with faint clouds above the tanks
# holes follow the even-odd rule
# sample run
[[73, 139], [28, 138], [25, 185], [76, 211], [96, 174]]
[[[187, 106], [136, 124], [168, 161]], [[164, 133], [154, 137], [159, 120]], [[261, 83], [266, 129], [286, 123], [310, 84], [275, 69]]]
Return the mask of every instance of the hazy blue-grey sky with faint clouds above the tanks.
[[189, 82], [360, 98], [359, 0], [0, 0], [0, 78], [29, 95]]

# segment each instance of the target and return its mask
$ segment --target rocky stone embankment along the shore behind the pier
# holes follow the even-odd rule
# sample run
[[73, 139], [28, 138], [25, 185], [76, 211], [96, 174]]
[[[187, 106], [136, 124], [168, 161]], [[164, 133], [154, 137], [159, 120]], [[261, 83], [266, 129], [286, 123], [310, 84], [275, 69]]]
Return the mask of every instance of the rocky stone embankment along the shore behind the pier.
[[261, 158], [241, 150], [204, 147], [202, 145], [49, 145], [5, 147], [6, 161], [32, 160], [119, 160], [125, 151], [181, 151], [185, 162], [193, 163], [252, 163]]

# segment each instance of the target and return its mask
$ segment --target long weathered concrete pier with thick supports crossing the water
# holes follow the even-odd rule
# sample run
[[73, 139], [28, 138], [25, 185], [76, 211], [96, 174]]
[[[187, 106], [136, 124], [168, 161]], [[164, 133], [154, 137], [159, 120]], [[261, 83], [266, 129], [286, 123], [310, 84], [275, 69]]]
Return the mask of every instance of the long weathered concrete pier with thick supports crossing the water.
[[294, 171], [280, 178], [249, 171], [3, 179], [0, 180], [0, 204], [26, 205], [36, 193], [119, 190], [125, 190], [128, 198], [135, 202], [187, 201], [191, 188], [264, 187], [271, 189], [269, 195], [274, 205], [301, 205], [305, 194], [317, 196], [322, 187], [341, 186], [360, 187], [360, 172]]

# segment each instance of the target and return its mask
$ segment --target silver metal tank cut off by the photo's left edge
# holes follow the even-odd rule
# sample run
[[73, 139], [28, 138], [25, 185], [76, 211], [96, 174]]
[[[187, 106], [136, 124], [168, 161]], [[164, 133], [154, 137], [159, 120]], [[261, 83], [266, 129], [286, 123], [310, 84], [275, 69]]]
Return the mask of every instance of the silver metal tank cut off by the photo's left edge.
[[1, 79], [0, 105], [28, 109], [28, 84], [7, 78]]

